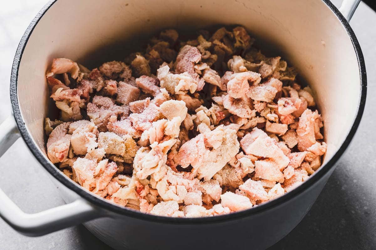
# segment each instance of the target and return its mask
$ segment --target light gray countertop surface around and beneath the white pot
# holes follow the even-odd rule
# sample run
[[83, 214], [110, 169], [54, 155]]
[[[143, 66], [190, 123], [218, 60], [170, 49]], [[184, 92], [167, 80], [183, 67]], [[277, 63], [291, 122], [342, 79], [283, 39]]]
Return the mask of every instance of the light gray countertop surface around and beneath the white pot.
[[[9, 79], [18, 42], [44, 0], [12, 0], [0, 8], [0, 122], [11, 114]], [[341, 0], [333, 1], [339, 6]], [[376, 249], [376, 13], [360, 3], [350, 22], [368, 78], [367, 103], [352, 144], [302, 222], [270, 249]], [[64, 204], [46, 172], [18, 140], [0, 159], [0, 187], [28, 213]], [[22, 236], [0, 219], [0, 249], [110, 249], [83, 226], [37, 238]]]

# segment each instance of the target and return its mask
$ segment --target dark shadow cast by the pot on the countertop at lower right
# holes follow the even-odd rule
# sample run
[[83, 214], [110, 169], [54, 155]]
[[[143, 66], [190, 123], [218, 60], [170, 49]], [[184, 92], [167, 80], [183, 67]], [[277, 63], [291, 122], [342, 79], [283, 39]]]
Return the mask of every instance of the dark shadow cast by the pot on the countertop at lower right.
[[268, 250], [376, 249], [376, 225], [365, 219], [375, 211], [368, 206], [362, 184], [345, 178], [340, 165], [302, 222]]

